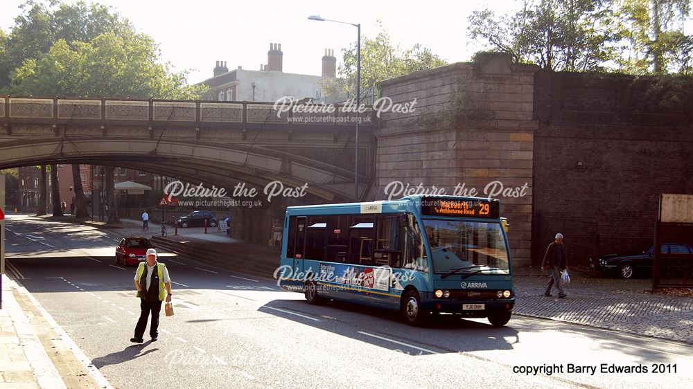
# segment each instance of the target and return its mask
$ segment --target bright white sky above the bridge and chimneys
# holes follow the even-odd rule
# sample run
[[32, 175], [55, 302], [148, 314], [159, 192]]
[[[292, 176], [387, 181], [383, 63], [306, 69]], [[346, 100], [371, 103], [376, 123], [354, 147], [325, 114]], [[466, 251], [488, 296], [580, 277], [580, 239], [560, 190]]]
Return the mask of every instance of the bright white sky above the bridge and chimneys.
[[[63, 0], [75, 3], [74, 0]], [[89, 2], [89, 1], [87, 1]], [[141, 33], [159, 43], [175, 70], [188, 69], [189, 82], [212, 76], [218, 60], [229, 69], [259, 70], [267, 64], [270, 43], [281, 44], [283, 71], [322, 75], [322, 56], [356, 42], [356, 27], [310, 21], [309, 15], [361, 24], [362, 37], [375, 37], [378, 21], [402, 48], [419, 43], [448, 62], [468, 61], [483, 46], [466, 35], [473, 10], [514, 9], [512, 0], [435, 1], [274, 1], [274, 0], [101, 0]], [[0, 0], [0, 28], [9, 32], [24, 0]]]

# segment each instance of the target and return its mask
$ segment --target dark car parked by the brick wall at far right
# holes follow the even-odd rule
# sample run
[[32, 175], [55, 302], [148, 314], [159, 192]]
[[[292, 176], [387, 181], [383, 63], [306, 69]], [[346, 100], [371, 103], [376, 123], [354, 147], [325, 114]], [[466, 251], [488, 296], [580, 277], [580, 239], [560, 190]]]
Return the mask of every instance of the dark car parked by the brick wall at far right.
[[[633, 278], [635, 275], [651, 274], [653, 258], [654, 246], [635, 255], [604, 255], [597, 263], [590, 258], [590, 266], [620, 278]], [[668, 269], [685, 271], [690, 275], [693, 272], [693, 246], [681, 243], [662, 244], [662, 260], [666, 261], [665, 266]]]

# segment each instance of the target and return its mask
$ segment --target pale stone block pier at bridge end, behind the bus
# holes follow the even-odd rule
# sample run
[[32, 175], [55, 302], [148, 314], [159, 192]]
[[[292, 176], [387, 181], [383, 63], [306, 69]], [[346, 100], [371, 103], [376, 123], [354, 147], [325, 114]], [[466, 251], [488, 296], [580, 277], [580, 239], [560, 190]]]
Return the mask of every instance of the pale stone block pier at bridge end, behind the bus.
[[393, 104], [416, 99], [416, 105], [381, 118], [371, 199], [411, 194], [398, 190], [407, 185], [487, 197], [502, 183], [506, 192], [494, 197], [511, 224], [511, 255], [516, 264], [528, 264], [537, 70], [495, 55], [480, 65], [451, 64], [383, 82], [382, 95]]

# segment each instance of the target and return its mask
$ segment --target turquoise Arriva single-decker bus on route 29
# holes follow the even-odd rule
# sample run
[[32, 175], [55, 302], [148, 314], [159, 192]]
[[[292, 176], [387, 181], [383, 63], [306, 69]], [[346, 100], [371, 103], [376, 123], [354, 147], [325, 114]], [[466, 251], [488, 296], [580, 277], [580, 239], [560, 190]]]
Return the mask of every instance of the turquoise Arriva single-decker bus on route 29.
[[286, 208], [279, 286], [308, 303], [396, 309], [423, 325], [440, 314], [510, 320], [515, 289], [500, 201], [414, 195]]

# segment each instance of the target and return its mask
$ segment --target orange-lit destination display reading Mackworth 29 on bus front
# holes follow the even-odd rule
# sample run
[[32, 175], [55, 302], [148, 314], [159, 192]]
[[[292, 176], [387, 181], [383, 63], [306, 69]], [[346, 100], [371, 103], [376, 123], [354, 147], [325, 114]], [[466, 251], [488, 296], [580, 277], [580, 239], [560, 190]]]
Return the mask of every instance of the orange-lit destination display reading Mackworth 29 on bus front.
[[494, 200], [446, 199], [441, 197], [423, 197], [421, 214], [431, 216], [480, 217], [498, 219], [500, 203]]

